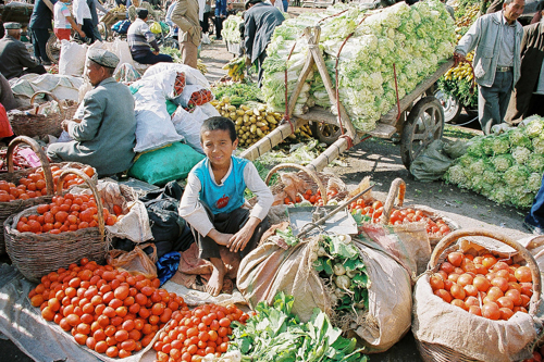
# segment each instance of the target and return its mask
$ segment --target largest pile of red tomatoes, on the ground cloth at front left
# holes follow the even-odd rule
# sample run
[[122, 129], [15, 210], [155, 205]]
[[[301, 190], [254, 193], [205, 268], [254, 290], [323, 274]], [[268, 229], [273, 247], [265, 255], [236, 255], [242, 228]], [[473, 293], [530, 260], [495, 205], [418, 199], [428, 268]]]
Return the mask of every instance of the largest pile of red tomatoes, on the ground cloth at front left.
[[41, 316], [72, 334], [82, 346], [111, 358], [126, 358], [148, 346], [176, 311], [182, 297], [159, 289], [158, 278], [132, 276], [82, 259], [41, 278], [28, 294]]

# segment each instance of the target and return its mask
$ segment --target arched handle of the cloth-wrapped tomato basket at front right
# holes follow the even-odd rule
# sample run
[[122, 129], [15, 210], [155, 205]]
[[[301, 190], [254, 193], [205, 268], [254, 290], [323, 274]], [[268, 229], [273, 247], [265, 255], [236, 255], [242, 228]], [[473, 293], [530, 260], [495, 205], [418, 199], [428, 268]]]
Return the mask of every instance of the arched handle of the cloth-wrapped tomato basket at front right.
[[498, 240], [503, 244], [506, 244], [510, 248], [516, 249], [519, 252], [521, 258], [527, 261], [529, 269], [531, 270], [531, 274], [533, 277], [533, 296], [531, 297], [531, 302], [529, 304], [529, 314], [534, 315], [536, 310], [539, 309], [539, 302], [542, 294], [542, 278], [539, 265], [534, 260], [533, 255], [521, 246], [518, 241], [515, 241], [505, 235], [498, 233], [492, 233], [490, 230], [483, 228], [469, 228], [469, 229], [460, 229], [446, 235], [434, 248], [433, 253], [431, 254], [431, 260], [429, 261], [428, 270], [433, 270], [438, 264], [440, 257], [442, 253], [454, 242], [456, 242], [459, 238], [467, 236], [484, 236], [491, 239]]

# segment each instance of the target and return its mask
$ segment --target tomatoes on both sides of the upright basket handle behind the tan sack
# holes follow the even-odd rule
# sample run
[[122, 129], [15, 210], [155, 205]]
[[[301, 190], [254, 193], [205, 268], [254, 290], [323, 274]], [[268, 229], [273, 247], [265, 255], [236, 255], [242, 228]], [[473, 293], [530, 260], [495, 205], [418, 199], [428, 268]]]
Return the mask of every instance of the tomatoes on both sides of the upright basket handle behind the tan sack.
[[[369, 216], [372, 223], [379, 224], [380, 217], [383, 214], [383, 203], [382, 201], [372, 201], [372, 203], [364, 202], [362, 198], [357, 199], [357, 201], [351, 202], [348, 207], [349, 211], [357, 212], [361, 211], [362, 215]], [[431, 217], [425, 215], [421, 210], [415, 209], [393, 209], [390, 216], [390, 225], [401, 225], [415, 222], [424, 222], [426, 226], [426, 234], [433, 237], [443, 237], [450, 232], [447, 223], [442, 219], [436, 219], [433, 221]]]

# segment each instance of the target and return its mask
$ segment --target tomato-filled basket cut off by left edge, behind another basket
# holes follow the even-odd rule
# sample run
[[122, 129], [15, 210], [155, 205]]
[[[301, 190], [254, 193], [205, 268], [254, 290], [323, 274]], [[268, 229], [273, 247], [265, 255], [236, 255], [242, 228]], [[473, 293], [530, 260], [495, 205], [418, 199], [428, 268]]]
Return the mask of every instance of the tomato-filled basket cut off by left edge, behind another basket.
[[[38, 155], [41, 167], [30, 167], [14, 171], [13, 154], [15, 147], [27, 143]], [[8, 173], [0, 174], [0, 224], [12, 214], [42, 202], [50, 202], [57, 189], [60, 173], [66, 167], [83, 171], [88, 177], [96, 180], [98, 175], [94, 167], [77, 162], [49, 163], [44, 150], [32, 138], [16, 137], [8, 148]], [[66, 176], [64, 188], [79, 185], [83, 178], [71, 174]], [[5, 252], [3, 233], [0, 233], [0, 254]]]

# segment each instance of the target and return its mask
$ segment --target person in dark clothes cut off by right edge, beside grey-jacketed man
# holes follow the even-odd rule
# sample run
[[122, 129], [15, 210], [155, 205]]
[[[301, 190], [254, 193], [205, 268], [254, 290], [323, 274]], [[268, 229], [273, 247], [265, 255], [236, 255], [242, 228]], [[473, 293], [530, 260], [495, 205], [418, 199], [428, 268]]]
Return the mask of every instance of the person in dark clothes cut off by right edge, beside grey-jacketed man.
[[506, 121], [518, 123], [539, 114], [544, 116], [544, 23], [523, 28], [521, 41], [521, 76], [508, 104]]

